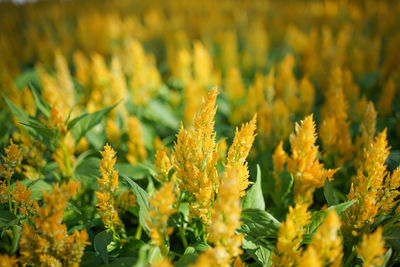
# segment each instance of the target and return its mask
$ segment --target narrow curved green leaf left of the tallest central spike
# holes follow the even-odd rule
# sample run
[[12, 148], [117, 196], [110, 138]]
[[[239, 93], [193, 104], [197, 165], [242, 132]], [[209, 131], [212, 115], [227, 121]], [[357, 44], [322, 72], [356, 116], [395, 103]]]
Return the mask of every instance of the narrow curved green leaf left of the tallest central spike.
[[149, 226], [147, 225], [147, 221], [150, 220], [149, 217], [149, 195], [147, 192], [141, 188], [137, 183], [135, 183], [130, 177], [127, 175], [121, 175], [121, 177], [128, 182], [128, 184], [132, 188], [132, 192], [136, 196], [136, 201], [139, 206], [139, 223], [143, 226], [145, 231], [150, 231]]

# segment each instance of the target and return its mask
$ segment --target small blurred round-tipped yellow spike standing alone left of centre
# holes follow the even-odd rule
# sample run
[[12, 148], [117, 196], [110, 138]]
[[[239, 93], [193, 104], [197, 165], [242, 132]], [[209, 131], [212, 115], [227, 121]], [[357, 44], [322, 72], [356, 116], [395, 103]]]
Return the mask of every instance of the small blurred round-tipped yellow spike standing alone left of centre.
[[147, 157], [147, 151], [143, 143], [143, 131], [140, 121], [135, 116], [128, 119], [128, 154], [126, 159], [130, 164], [137, 164]]

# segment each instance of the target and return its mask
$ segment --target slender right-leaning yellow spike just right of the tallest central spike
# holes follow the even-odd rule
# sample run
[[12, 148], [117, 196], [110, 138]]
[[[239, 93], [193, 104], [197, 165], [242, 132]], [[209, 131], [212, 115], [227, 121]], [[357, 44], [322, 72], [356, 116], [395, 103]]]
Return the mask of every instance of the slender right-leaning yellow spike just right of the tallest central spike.
[[249, 182], [249, 170], [247, 168], [246, 158], [250, 153], [251, 147], [254, 142], [256, 130], [257, 114], [249, 123], [242, 125], [240, 131], [236, 128], [236, 134], [233, 139], [232, 145], [228, 150], [228, 157], [226, 161], [226, 168], [235, 168], [240, 174], [239, 190], [240, 196], [244, 196], [245, 190], [251, 184]]

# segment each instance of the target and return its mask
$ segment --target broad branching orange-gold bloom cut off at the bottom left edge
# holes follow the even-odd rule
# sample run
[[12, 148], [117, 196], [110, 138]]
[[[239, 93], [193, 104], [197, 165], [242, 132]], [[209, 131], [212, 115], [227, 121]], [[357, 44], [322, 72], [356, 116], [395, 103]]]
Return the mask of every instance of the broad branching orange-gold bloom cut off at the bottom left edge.
[[77, 191], [79, 182], [55, 184], [51, 193], [43, 193], [43, 207], [34, 218], [34, 225], [23, 224], [20, 240], [21, 262], [38, 266], [76, 266], [87, 242], [86, 230], [69, 235], [62, 218], [67, 201]]

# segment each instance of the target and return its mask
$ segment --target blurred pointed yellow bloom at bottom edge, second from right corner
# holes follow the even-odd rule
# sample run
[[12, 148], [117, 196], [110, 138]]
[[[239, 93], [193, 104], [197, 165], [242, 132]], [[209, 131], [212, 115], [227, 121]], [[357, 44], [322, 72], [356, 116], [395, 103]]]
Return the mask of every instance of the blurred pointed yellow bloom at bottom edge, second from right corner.
[[[340, 218], [331, 210], [319, 226], [308, 250], [318, 251], [323, 266], [341, 266], [343, 258], [342, 238], [339, 236]], [[305, 253], [307, 253], [307, 251]], [[313, 266], [313, 265], [312, 265]]]

